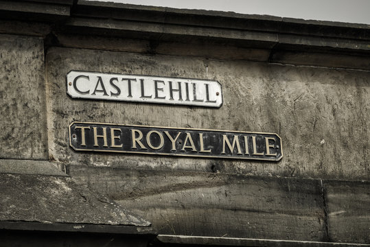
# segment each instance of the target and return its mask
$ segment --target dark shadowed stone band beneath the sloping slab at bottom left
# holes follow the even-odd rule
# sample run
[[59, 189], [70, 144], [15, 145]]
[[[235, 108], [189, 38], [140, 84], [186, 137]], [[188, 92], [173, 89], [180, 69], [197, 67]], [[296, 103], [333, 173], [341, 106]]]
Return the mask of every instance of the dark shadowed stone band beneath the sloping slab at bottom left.
[[1, 246], [147, 247], [157, 234], [146, 226], [0, 222], [0, 235]]

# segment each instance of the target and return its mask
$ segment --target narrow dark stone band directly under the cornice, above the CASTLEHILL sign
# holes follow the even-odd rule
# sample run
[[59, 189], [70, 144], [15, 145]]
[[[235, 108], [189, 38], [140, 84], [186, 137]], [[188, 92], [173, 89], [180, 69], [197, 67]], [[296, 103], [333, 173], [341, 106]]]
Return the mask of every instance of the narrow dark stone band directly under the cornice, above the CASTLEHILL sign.
[[[290, 43], [296, 41], [295, 49], [289, 45], [276, 45], [272, 47], [264, 47], [262, 42], [253, 40], [248, 43], [235, 43], [225, 45], [224, 42], [213, 42], [212, 40], [199, 41], [195, 38], [185, 39], [178, 38], [178, 42], [155, 42], [142, 40], [141, 36], [137, 39], [132, 38], [116, 38], [103, 36], [81, 36], [81, 35], [66, 35], [56, 34], [58, 43], [65, 47], [84, 48], [84, 49], [100, 49], [108, 51], [128, 51], [149, 54], [164, 54], [175, 56], [196, 56], [203, 58], [227, 59], [227, 60], [251, 60], [258, 62], [271, 62], [280, 64], [296, 64], [296, 65], [314, 65], [319, 67], [336, 67], [336, 68], [354, 68], [354, 69], [370, 69], [369, 55], [359, 56], [358, 54], [335, 54], [323, 53], [320, 49], [308, 51], [308, 47], [321, 47], [326, 43], [320, 43], [319, 38], [315, 38], [312, 42], [305, 39], [299, 40], [296, 37], [290, 37]], [[336, 47], [347, 48], [348, 43], [338, 40], [332, 41]], [[368, 44], [368, 42], [363, 42]], [[359, 46], [358, 43], [351, 45]], [[277, 49], [281, 47], [281, 49]]]

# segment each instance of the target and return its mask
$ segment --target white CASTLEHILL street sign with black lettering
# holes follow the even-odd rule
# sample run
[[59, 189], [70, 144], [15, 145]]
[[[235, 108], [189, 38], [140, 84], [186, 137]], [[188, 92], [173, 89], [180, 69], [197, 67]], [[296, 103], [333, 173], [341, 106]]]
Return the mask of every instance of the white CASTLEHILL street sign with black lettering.
[[70, 71], [67, 93], [78, 99], [216, 108], [222, 105], [221, 85], [212, 80]]

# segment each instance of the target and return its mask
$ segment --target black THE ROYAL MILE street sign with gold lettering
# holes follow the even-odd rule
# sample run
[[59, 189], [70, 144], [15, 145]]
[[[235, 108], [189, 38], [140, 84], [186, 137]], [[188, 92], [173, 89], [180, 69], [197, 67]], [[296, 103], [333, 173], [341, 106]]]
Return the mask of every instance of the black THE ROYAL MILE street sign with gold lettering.
[[69, 145], [76, 151], [160, 154], [279, 161], [277, 134], [73, 122]]

